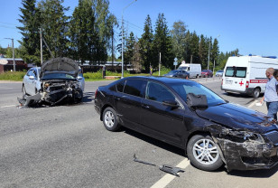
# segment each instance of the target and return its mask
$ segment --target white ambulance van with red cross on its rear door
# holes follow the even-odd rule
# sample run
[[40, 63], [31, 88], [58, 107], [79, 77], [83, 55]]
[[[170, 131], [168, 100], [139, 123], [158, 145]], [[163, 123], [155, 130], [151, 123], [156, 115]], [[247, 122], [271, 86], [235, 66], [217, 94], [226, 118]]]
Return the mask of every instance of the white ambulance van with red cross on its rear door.
[[276, 57], [229, 57], [222, 76], [221, 89], [258, 98], [260, 93], [264, 93], [268, 81], [265, 71], [268, 68], [278, 69]]

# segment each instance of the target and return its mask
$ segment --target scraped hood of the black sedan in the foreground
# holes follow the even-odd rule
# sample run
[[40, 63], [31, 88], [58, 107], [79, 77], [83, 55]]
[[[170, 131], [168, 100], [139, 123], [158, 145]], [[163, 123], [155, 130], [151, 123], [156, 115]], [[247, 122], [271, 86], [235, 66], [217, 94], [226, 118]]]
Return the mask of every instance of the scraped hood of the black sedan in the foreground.
[[273, 129], [278, 129], [273, 118], [267, 117], [264, 113], [232, 103], [206, 109], [196, 109], [196, 113], [201, 118], [206, 118], [238, 130], [265, 133]]

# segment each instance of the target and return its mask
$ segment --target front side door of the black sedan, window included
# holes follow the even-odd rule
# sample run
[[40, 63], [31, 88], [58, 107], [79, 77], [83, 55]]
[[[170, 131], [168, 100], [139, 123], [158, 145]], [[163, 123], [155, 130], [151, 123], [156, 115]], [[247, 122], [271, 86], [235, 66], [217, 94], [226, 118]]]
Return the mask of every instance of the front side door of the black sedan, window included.
[[[177, 101], [180, 108], [163, 105], [165, 100]], [[142, 125], [149, 131], [147, 134], [173, 145], [182, 145], [182, 136], [186, 131], [184, 108], [170, 89], [161, 83], [148, 81], [142, 107]]]

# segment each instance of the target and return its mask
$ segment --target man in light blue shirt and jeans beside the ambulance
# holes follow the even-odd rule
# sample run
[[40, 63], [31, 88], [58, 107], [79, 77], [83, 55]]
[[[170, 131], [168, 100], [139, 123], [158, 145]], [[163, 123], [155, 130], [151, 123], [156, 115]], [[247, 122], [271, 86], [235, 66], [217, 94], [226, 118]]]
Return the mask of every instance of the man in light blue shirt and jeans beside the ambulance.
[[273, 77], [274, 69], [268, 68], [265, 71], [265, 75], [268, 79], [264, 97], [261, 99], [261, 103], [266, 102], [267, 107], [267, 116], [277, 120], [277, 111], [278, 111], [278, 95], [276, 90], [277, 80]]

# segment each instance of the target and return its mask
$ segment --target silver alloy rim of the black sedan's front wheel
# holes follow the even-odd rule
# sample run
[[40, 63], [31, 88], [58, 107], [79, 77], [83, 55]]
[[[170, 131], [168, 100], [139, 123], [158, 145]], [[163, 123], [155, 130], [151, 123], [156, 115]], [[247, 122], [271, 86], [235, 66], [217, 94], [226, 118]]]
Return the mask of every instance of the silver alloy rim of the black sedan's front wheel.
[[193, 146], [193, 155], [200, 164], [214, 164], [219, 157], [218, 147], [210, 139], [200, 139]]

